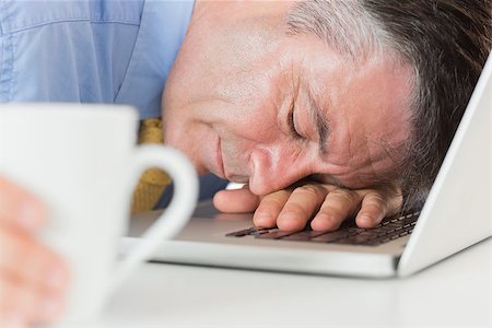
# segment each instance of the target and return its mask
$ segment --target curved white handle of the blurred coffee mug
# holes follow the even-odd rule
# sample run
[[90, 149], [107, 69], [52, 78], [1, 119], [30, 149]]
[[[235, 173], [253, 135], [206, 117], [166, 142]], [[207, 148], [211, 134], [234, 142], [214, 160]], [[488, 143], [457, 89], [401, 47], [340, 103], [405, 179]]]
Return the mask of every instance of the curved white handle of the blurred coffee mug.
[[132, 156], [128, 194], [134, 189], [140, 175], [150, 167], [164, 169], [174, 181], [174, 194], [169, 206], [140, 238], [139, 244], [116, 267], [109, 293], [117, 289], [164, 239], [173, 238], [188, 222], [198, 200], [198, 177], [190, 161], [172, 148], [148, 144], [139, 145]]

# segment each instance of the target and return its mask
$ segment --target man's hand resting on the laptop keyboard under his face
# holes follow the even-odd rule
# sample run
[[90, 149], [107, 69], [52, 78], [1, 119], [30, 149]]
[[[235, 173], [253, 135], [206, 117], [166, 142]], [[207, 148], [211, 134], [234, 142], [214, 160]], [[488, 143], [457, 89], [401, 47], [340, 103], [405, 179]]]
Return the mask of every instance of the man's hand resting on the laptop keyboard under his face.
[[349, 190], [304, 181], [262, 197], [251, 194], [246, 185], [221, 190], [213, 201], [223, 212], [255, 212], [256, 226], [302, 231], [311, 221], [314, 231], [333, 231], [349, 218], [355, 218], [360, 227], [374, 227], [401, 210], [402, 197], [397, 187]]

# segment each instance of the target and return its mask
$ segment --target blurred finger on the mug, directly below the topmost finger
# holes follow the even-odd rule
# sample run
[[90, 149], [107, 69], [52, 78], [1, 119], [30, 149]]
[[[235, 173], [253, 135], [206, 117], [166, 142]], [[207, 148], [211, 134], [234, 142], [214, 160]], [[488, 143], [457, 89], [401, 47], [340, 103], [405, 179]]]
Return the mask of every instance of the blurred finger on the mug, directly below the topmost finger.
[[0, 274], [39, 290], [60, 292], [69, 272], [62, 259], [30, 234], [0, 224]]

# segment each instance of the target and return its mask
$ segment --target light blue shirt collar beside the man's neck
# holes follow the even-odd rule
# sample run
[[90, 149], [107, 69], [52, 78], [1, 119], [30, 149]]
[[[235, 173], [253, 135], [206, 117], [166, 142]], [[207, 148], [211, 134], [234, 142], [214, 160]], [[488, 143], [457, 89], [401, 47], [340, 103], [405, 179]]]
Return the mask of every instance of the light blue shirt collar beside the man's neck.
[[145, 1], [134, 49], [115, 103], [137, 106], [142, 119], [161, 115], [164, 82], [185, 37], [194, 5], [191, 0]]

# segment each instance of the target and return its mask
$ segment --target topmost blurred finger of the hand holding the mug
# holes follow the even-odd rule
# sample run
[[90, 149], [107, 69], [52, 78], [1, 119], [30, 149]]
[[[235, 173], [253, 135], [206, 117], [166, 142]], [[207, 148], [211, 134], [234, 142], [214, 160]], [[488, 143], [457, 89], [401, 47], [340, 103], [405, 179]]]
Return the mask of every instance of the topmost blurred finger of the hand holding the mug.
[[46, 220], [46, 208], [26, 190], [0, 176], [0, 222], [33, 231]]

